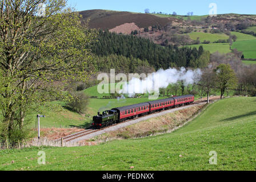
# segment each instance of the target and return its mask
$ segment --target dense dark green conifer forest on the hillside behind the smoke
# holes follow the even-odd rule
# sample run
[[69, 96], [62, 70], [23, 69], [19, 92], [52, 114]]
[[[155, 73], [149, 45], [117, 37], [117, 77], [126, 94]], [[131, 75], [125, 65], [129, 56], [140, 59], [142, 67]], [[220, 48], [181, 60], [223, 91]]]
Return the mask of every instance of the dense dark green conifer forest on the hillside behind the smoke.
[[[149, 39], [137, 38], [132, 35], [117, 35], [109, 31], [99, 31], [98, 42], [91, 49], [95, 55], [109, 56], [122, 55], [125, 57], [135, 57], [147, 62], [155, 69], [169, 67], [191, 67], [202, 68], [206, 65], [207, 56], [203, 47], [178, 48], [175, 46], [159, 46]], [[206, 59], [200, 59], [206, 56]]]

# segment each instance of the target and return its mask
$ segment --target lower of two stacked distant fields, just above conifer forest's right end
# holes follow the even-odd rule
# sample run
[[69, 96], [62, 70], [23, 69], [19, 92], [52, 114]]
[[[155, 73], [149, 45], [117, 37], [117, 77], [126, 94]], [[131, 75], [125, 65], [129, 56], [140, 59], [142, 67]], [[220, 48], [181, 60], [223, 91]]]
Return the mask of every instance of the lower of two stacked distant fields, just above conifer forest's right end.
[[229, 53], [231, 52], [229, 49], [229, 44], [228, 43], [216, 43], [216, 44], [198, 44], [198, 45], [193, 45], [189, 47], [196, 47], [199, 48], [199, 46], [203, 46], [203, 48], [206, 51], [210, 51], [211, 53], [214, 52], [219, 52], [219, 53]]

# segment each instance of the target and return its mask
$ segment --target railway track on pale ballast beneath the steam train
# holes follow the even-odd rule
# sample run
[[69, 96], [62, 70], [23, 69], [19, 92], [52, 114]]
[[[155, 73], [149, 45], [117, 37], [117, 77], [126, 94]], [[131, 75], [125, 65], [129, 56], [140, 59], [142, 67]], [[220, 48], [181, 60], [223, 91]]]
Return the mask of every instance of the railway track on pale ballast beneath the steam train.
[[[198, 104], [202, 104], [202, 103], [205, 103], [205, 101], [197, 101], [197, 102], [194, 102], [193, 104], [190, 104], [190, 105], [184, 105], [184, 106], [180, 106], [180, 107], [177, 107], [177, 108], [182, 108], [182, 107], [187, 107], [187, 106], [193, 106], [193, 105], [198, 105]], [[168, 109], [168, 110], [171, 110], [171, 109]], [[167, 111], [167, 110], [165, 110]], [[158, 111], [158, 112], [155, 112], [155, 113], [151, 113], [151, 114], [147, 114], [147, 115], [143, 115], [142, 117], [139, 117], [139, 118], [145, 118], [145, 117], [148, 117], [150, 115], [154, 115], [154, 114], [157, 114], [157, 113], [162, 113], [162, 111]], [[85, 131], [81, 131], [79, 133], [75, 133], [75, 134], [72, 134], [72, 135], [69, 135], [67, 137], [64, 137], [63, 138], [63, 141], [64, 142], [72, 142], [74, 140], [79, 140], [79, 138], [84, 138], [86, 137], [86, 135], [90, 135], [90, 134], [93, 134], [93, 133], [97, 133], [98, 131], [103, 131], [103, 130], [107, 130], [107, 129], [110, 129], [111, 127], [115, 127], [115, 126], [118, 126], [118, 125], [122, 125], [123, 123], [127, 123], [127, 122], [131, 122], [131, 121], [134, 121], [135, 118], [133, 119], [128, 119], [126, 121], [123, 121], [121, 123], [116, 123], [114, 125], [111, 125], [111, 126], [107, 126], [107, 127], [104, 127], [103, 129], [97, 129], [97, 130], [93, 130], [93, 129], [87, 129]], [[56, 141], [60, 141], [61, 139], [58, 139]]]

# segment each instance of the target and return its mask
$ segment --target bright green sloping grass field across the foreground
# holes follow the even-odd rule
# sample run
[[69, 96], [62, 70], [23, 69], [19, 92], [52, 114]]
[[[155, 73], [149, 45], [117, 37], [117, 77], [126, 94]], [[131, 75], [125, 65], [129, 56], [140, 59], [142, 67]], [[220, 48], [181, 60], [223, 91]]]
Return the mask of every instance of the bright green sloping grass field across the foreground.
[[[99, 146], [4, 150], [0, 169], [255, 170], [255, 108], [256, 98], [228, 98], [171, 134]], [[46, 165], [37, 163], [38, 151], [46, 152]], [[217, 165], [209, 164], [210, 151], [217, 152]]]

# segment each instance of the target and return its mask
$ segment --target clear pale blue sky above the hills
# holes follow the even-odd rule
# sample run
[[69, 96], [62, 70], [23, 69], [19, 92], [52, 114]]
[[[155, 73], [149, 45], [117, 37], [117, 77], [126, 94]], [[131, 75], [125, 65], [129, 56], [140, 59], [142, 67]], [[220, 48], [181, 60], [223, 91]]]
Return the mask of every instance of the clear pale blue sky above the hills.
[[145, 9], [150, 12], [177, 12], [185, 15], [193, 12], [194, 15], [206, 15], [210, 11], [210, 3], [217, 5], [217, 14], [237, 13], [237, 14], [256, 14], [255, 0], [68, 0], [69, 5], [78, 11], [91, 9], [131, 11], [144, 13]]

